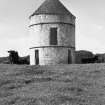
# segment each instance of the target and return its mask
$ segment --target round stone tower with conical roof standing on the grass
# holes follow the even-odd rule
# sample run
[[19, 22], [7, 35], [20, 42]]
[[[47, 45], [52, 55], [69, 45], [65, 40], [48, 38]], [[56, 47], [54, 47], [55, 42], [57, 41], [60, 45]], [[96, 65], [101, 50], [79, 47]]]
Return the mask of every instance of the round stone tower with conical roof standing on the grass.
[[75, 16], [59, 0], [45, 0], [29, 19], [31, 65], [75, 63]]

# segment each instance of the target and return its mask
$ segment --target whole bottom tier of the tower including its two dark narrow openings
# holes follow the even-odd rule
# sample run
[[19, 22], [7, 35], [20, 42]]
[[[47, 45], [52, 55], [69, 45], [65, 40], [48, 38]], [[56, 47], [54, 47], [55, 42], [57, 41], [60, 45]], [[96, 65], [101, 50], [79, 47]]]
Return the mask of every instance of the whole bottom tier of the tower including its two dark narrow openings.
[[30, 50], [30, 65], [72, 64], [74, 53], [74, 48], [63, 46], [35, 47]]

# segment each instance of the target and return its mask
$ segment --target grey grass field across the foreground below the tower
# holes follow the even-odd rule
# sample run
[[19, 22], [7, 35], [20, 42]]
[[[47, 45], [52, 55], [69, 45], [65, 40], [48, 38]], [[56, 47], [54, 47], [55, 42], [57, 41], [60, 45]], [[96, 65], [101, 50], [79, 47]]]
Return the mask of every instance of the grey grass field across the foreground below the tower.
[[0, 105], [105, 105], [105, 64], [0, 65]]

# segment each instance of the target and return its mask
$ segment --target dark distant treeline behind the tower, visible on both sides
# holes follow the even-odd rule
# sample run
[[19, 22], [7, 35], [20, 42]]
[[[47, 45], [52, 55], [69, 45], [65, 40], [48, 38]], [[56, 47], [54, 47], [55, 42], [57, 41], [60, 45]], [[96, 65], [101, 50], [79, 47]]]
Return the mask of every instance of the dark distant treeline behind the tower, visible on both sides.
[[[0, 64], [30, 64], [30, 56], [20, 57], [17, 51], [8, 51], [8, 57], [0, 57]], [[105, 63], [105, 54], [93, 54], [90, 51], [75, 51], [76, 64]]]

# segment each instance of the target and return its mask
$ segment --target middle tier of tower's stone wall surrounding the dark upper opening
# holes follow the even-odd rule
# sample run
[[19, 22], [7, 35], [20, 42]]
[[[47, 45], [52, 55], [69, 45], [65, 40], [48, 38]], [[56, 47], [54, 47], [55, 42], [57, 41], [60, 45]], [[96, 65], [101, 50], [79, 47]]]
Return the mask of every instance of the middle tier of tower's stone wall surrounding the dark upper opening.
[[68, 24], [43, 24], [30, 28], [31, 47], [50, 45], [50, 28], [57, 28], [58, 46], [75, 47], [75, 27]]

